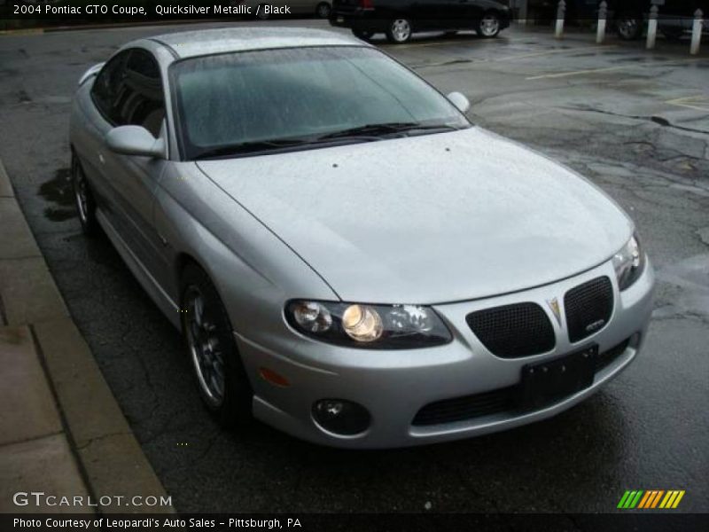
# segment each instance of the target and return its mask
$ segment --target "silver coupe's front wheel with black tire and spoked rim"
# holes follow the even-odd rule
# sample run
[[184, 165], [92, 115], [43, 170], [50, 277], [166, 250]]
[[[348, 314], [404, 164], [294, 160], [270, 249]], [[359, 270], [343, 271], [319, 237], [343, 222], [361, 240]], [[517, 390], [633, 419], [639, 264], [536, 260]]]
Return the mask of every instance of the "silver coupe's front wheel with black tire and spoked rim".
[[183, 339], [202, 402], [221, 426], [248, 424], [253, 390], [219, 293], [206, 272], [189, 263], [180, 296]]

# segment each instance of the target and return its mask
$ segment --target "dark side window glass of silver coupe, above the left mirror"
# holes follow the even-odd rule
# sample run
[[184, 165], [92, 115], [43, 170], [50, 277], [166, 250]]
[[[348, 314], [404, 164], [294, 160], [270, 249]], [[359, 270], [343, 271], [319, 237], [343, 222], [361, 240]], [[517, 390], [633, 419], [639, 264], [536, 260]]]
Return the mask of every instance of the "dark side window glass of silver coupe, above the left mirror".
[[113, 125], [143, 126], [158, 137], [165, 118], [165, 98], [157, 62], [148, 51], [138, 49], [113, 61], [94, 84], [96, 105]]

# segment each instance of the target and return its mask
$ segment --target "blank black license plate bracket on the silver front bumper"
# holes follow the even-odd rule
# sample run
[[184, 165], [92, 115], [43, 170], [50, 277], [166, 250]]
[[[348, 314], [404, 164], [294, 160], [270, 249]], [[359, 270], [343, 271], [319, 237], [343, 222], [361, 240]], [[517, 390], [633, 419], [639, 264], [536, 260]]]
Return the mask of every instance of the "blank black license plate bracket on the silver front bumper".
[[554, 360], [526, 364], [520, 386], [522, 410], [539, 409], [591, 386], [597, 356], [598, 346], [591, 345]]

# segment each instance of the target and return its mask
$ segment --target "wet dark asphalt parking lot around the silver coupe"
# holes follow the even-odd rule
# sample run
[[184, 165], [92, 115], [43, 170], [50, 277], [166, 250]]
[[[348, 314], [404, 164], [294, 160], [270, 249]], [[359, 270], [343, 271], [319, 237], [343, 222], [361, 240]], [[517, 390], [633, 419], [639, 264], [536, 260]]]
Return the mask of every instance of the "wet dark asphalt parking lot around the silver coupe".
[[658, 268], [658, 297], [642, 356], [573, 410], [463, 442], [353, 452], [261, 425], [221, 432], [199, 404], [168, 321], [105, 240], [80, 235], [66, 182], [75, 82], [120, 43], [162, 31], [0, 38], [0, 156], [72, 316], [178, 510], [610, 512], [626, 489], [685, 489], [678, 510], [709, 510], [706, 52], [691, 58], [684, 43], [664, 41], [653, 52], [613, 39], [597, 47], [592, 35], [556, 41], [519, 30], [490, 41], [375, 40], [440, 90], [464, 92], [479, 125], [609, 192], [635, 218]]

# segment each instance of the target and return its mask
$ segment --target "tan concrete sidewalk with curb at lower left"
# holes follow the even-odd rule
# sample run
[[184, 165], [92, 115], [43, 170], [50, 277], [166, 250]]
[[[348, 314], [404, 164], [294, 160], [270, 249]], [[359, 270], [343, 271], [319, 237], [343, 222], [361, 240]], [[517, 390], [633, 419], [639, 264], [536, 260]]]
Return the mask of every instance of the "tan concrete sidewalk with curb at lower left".
[[[0, 512], [174, 511], [126, 502], [167, 494], [69, 316], [1, 160], [0, 367]], [[17, 505], [18, 492], [57, 498], [36, 505], [20, 495]]]

